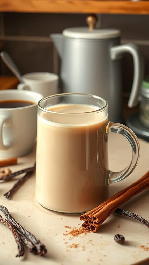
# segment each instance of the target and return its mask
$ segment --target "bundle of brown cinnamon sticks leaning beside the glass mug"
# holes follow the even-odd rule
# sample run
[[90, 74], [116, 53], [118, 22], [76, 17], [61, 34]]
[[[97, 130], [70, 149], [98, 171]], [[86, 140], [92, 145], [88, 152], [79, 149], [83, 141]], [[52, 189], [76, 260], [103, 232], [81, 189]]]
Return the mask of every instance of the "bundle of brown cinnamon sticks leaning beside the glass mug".
[[149, 171], [139, 180], [119, 191], [102, 204], [80, 216], [84, 223], [82, 227], [96, 232], [102, 223], [111, 215], [119, 206], [124, 204], [130, 198], [149, 187]]

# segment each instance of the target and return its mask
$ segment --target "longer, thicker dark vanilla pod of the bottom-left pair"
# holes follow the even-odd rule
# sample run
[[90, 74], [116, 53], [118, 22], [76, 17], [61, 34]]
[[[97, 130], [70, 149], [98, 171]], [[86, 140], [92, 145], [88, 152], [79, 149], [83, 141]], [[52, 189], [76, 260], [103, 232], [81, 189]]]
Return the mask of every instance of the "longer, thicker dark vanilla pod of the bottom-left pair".
[[32, 242], [32, 244], [37, 249], [37, 254], [42, 256], [46, 254], [47, 250], [45, 248], [45, 245], [43, 245], [39, 240], [36, 239], [34, 235], [32, 235], [29, 231], [27, 231], [25, 228], [23, 228], [8, 212], [7, 208], [5, 206], [0, 206], [0, 210], [5, 214], [7, 220], [14, 226], [17, 231], [19, 231], [24, 237], [28, 238], [29, 241]]

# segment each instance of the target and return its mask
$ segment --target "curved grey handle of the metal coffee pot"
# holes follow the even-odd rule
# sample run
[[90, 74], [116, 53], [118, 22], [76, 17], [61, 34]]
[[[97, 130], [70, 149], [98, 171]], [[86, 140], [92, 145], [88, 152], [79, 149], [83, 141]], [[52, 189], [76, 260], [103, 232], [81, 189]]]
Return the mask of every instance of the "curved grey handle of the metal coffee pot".
[[132, 54], [134, 62], [133, 85], [128, 101], [128, 107], [132, 108], [136, 106], [138, 103], [139, 91], [141, 88], [141, 83], [144, 74], [144, 63], [140, 48], [135, 44], [129, 44], [129, 43], [111, 47], [111, 59], [112, 60], [120, 59], [121, 54], [124, 52], [129, 52], [130, 54]]

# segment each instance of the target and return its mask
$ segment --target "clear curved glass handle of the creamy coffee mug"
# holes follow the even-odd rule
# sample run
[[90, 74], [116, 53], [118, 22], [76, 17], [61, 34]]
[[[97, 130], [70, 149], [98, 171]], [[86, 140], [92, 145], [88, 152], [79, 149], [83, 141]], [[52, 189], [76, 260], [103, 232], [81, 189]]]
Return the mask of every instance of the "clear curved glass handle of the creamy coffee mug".
[[123, 170], [119, 172], [113, 172], [111, 170], [108, 170], [107, 176], [106, 176], [106, 185], [118, 182], [122, 179], [125, 179], [128, 177], [135, 167], [138, 164], [139, 157], [140, 157], [140, 145], [137, 139], [137, 136], [133, 133], [132, 130], [130, 130], [127, 126], [122, 125], [120, 123], [113, 123], [111, 121], [108, 121], [106, 125], [106, 135], [109, 133], [119, 133], [126, 137], [126, 139], [129, 141], [131, 147], [132, 147], [132, 160], [130, 164]]

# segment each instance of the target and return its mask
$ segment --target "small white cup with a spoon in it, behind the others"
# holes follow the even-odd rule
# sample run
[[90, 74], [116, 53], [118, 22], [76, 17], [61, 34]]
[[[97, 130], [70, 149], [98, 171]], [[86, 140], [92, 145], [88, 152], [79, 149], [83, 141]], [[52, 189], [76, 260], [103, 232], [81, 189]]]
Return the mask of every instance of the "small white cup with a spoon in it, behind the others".
[[17, 85], [17, 89], [32, 90], [41, 93], [44, 98], [58, 94], [59, 76], [53, 73], [28, 73], [23, 76], [24, 84]]

